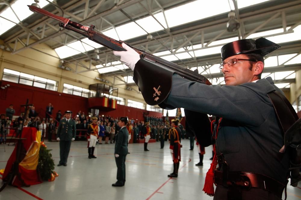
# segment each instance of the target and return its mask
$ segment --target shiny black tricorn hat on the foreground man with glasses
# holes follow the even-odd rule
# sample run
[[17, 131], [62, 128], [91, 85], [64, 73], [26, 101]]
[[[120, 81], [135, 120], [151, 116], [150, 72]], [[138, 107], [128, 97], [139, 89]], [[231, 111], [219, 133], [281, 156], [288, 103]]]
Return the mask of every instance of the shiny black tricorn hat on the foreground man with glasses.
[[253, 40], [253, 39], [237, 40], [225, 44], [222, 47], [221, 49], [222, 61], [230, 56], [238, 55], [238, 54], [255, 53], [255, 54], [265, 56], [280, 47], [281, 46], [279, 46], [278, 44], [270, 40], [267, 40], [264, 37], [260, 37], [257, 40]]

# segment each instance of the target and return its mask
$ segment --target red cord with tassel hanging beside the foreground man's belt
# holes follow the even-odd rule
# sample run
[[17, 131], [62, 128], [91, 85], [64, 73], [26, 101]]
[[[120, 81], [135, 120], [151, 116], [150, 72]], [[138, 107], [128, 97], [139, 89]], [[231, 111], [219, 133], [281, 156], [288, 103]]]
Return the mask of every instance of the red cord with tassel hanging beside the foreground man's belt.
[[[220, 123], [221, 120], [222, 120], [222, 118], [220, 118], [218, 123]], [[213, 121], [211, 122], [211, 132], [213, 133], [212, 123], [213, 123]], [[216, 139], [217, 139], [218, 131], [219, 131], [219, 124], [218, 124], [217, 129], [216, 129]], [[203, 188], [203, 191], [209, 196], [214, 196], [214, 187], [213, 187], [213, 184], [214, 184], [214, 170], [216, 169], [216, 166], [217, 166], [217, 157], [216, 157], [215, 145], [213, 146], [213, 151], [215, 153], [214, 153], [214, 156], [213, 156], [212, 163], [210, 164], [210, 168], [209, 168], [208, 172], [206, 173], [205, 184], [204, 184], [204, 188]]]

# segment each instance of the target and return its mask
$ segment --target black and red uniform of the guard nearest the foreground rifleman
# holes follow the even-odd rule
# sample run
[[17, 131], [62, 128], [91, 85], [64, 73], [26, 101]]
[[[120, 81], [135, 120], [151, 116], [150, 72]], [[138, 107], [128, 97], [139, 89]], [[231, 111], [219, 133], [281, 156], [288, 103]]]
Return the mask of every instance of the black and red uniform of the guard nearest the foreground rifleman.
[[181, 161], [181, 144], [179, 133], [181, 133], [181, 130], [178, 128], [178, 126], [170, 129], [168, 133], [170, 141], [169, 149], [172, 154], [173, 160], [173, 173], [171, 173], [169, 177], [178, 177], [178, 170], [180, 165], [179, 162]]

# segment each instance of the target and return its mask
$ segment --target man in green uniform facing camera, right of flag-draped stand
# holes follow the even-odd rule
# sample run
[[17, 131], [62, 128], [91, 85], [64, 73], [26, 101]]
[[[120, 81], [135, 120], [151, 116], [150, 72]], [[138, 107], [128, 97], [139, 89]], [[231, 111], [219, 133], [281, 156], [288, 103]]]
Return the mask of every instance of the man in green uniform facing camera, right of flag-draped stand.
[[75, 121], [71, 119], [72, 111], [67, 110], [65, 117], [61, 119], [57, 129], [57, 141], [60, 141], [60, 162], [57, 166], [67, 166], [67, 159], [70, 151], [71, 141], [74, 141], [76, 134]]

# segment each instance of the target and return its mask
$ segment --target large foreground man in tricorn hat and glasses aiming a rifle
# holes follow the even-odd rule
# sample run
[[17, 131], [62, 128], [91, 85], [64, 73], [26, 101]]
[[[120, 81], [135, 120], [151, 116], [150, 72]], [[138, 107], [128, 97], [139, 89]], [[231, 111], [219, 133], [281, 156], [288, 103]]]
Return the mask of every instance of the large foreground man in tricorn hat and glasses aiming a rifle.
[[279, 152], [284, 139], [268, 93], [283, 92], [274, 85], [272, 78], [261, 79], [263, 56], [278, 49], [278, 44], [261, 37], [224, 45], [220, 66], [224, 86], [184, 79], [140, 58], [126, 44], [122, 45], [127, 51], [114, 54], [121, 56], [121, 61], [134, 70], [133, 79], [149, 104], [150, 100], [155, 101], [151, 99], [151, 89], [160, 85], [160, 97], [156, 100], [161, 107], [182, 107], [222, 118], [217, 120], [219, 168], [214, 174], [213, 169], [207, 173], [214, 176], [217, 187], [214, 194], [213, 184], [208, 186], [210, 178], [206, 178], [205, 184], [208, 184], [203, 190], [207, 194], [214, 194], [214, 199], [219, 200], [281, 199], [287, 181], [289, 155], [287, 151]]

